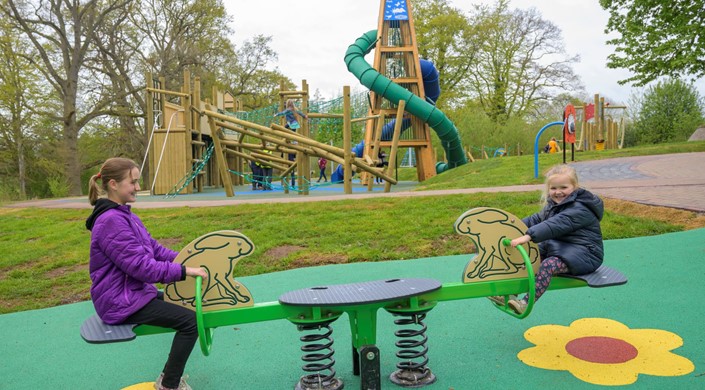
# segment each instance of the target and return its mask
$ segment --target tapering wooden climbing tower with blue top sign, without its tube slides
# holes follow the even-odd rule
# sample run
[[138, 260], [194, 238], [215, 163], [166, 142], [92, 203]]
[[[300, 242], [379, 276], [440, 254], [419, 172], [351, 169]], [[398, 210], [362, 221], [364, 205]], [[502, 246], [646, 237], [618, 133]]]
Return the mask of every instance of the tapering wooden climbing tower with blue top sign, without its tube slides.
[[[378, 40], [375, 46], [373, 68], [395, 83], [425, 99], [423, 75], [419, 62], [414, 19], [408, 0], [380, 0], [379, 19], [377, 23]], [[379, 115], [385, 126], [396, 115], [397, 106], [381, 95], [370, 92], [370, 115]], [[365, 154], [377, 156], [372, 150], [374, 123], [368, 121], [365, 131]], [[406, 128], [406, 129], [405, 129]], [[435, 176], [435, 156], [431, 146], [431, 133], [428, 124], [418, 117], [409, 115], [402, 125], [403, 134], [399, 147], [414, 148], [416, 152], [416, 171], [419, 181]], [[383, 132], [384, 134], [385, 132]], [[382, 139], [380, 147], [388, 148], [391, 140]], [[393, 161], [390, 161], [393, 164]]]

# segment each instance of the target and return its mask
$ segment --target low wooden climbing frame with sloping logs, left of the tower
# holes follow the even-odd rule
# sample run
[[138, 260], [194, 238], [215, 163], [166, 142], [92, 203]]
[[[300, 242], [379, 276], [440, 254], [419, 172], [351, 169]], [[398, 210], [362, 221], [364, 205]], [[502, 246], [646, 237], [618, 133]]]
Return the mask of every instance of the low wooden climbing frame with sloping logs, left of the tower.
[[[380, 116], [352, 118], [350, 88], [347, 86], [343, 88], [343, 114], [309, 113], [310, 118], [337, 118], [342, 121], [344, 145], [339, 148], [311, 139], [308, 122], [304, 120], [301, 121], [301, 128], [292, 132], [283, 126], [283, 119], [279, 118], [272, 118], [272, 122], [276, 123], [269, 126], [239, 119], [233, 113], [236, 101], [215, 88], [210, 99], [201, 100], [199, 79], [195, 78], [192, 82], [188, 71], [184, 72], [180, 91], [162, 89], [165, 81], [156, 81], [152, 75], [148, 75], [147, 82], [150, 85], [146, 89], [147, 101], [152, 102], [147, 110], [147, 128], [152, 129], [147, 161], [153, 195], [201, 192], [204, 186], [222, 186], [226, 195], [232, 197], [233, 185], [244, 184], [242, 175], [237, 173], [248, 171], [249, 162], [273, 167], [283, 178], [296, 170], [298, 192], [307, 195], [311, 180], [309, 157], [324, 157], [346, 167], [346, 194], [352, 193], [353, 171], [382, 178], [386, 181], [386, 192], [390, 191], [392, 184], [396, 184], [393, 165], [377, 167], [376, 158], [352, 155], [351, 124], [354, 121], [368, 121], [372, 126], [379, 127], [376, 123], [380, 122]], [[301, 90], [282, 89], [279, 92], [280, 111], [284, 109], [287, 99], [300, 99], [300, 108], [306, 112], [308, 90], [305, 80]], [[401, 105], [395, 112], [401, 117], [403, 110]], [[399, 133], [398, 129], [396, 133]], [[397, 144], [391, 143], [392, 155], [396, 154], [397, 147]], [[285, 158], [288, 154], [296, 154], [296, 160], [289, 161]], [[285, 184], [286, 180], [282, 182]], [[175, 188], [178, 183], [183, 183], [181, 188]], [[284, 188], [288, 190], [288, 186]]]

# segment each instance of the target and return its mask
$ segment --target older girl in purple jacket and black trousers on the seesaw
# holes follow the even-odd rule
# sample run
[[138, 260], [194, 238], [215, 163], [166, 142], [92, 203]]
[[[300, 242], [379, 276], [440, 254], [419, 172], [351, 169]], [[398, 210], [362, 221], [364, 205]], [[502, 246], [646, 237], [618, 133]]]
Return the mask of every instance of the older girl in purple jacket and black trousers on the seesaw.
[[174, 263], [178, 253], [161, 246], [132, 213], [127, 203], [135, 201], [139, 179], [139, 167], [126, 158], [108, 159], [90, 178], [88, 199], [95, 206], [86, 220], [91, 231], [91, 300], [107, 324], [174, 329], [169, 357], [154, 387], [190, 390], [182, 375], [198, 339], [196, 313], [165, 302], [153, 283], [172, 283], [187, 276], [205, 279], [208, 273]]

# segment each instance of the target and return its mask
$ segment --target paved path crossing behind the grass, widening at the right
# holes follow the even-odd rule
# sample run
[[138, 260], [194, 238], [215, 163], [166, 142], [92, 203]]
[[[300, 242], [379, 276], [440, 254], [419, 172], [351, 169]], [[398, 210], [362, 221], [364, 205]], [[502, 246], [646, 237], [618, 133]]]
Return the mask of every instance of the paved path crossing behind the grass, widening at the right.
[[[654, 156], [623, 157], [573, 164], [581, 185], [608, 198], [623, 199], [648, 205], [705, 212], [705, 152]], [[179, 196], [176, 199], [150, 197], [138, 199], [135, 208], [213, 207], [248, 203], [290, 203], [319, 200], [350, 200], [371, 197], [436, 196], [479, 192], [521, 192], [542, 189], [542, 185], [518, 185], [491, 188], [467, 188], [435, 191], [408, 191], [393, 187], [394, 192], [360, 192], [352, 195], [326, 195], [313, 191], [311, 196], [257, 192], [236, 199], [201, 196]], [[315, 193], [315, 194], [314, 194]], [[265, 197], [263, 197], [263, 195]], [[91, 208], [86, 197], [21, 202], [5, 207]]]

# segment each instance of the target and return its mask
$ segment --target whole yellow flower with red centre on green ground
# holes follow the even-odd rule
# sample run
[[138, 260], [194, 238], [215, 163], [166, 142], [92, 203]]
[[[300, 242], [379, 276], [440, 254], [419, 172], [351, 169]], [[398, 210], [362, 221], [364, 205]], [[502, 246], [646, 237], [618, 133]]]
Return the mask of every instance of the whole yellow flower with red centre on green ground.
[[679, 376], [693, 363], [670, 351], [683, 345], [678, 335], [659, 329], [629, 329], [606, 318], [583, 318], [570, 326], [542, 325], [524, 333], [535, 347], [519, 360], [546, 370], [569, 371], [596, 385], [628, 385], [639, 374]]

